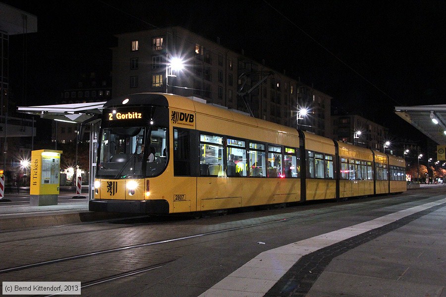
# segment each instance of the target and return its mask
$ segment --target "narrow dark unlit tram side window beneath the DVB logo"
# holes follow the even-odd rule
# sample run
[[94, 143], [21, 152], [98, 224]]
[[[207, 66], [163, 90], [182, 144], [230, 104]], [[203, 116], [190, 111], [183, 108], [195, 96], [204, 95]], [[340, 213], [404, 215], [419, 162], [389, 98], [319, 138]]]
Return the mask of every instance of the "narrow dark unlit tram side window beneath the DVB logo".
[[190, 131], [174, 129], [173, 135], [173, 174], [190, 176]]

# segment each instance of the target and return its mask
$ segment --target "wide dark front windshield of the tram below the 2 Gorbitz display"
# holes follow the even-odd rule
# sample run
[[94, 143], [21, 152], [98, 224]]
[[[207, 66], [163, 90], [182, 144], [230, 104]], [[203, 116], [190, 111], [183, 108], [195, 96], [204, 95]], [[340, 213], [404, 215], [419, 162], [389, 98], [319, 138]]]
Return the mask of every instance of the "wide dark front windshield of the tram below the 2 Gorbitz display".
[[99, 178], [125, 179], [157, 176], [166, 168], [163, 127], [108, 127], [101, 129]]

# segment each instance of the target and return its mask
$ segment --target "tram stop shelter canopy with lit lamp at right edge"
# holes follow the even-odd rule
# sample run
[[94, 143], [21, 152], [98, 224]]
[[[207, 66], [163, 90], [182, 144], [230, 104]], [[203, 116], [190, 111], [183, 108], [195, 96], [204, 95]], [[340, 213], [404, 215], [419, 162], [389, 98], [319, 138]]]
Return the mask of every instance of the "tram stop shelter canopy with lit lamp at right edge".
[[438, 145], [446, 144], [446, 104], [395, 106], [395, 113]]

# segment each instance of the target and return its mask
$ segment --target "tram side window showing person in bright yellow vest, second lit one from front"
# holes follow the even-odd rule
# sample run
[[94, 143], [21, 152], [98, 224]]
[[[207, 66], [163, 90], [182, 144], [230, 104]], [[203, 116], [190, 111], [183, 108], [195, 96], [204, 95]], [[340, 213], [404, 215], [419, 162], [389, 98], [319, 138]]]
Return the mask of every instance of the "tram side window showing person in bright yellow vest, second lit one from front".
[[226, 157], [227, 176], [247, 176], [248, 160], [244, 141], [228, 138]]

